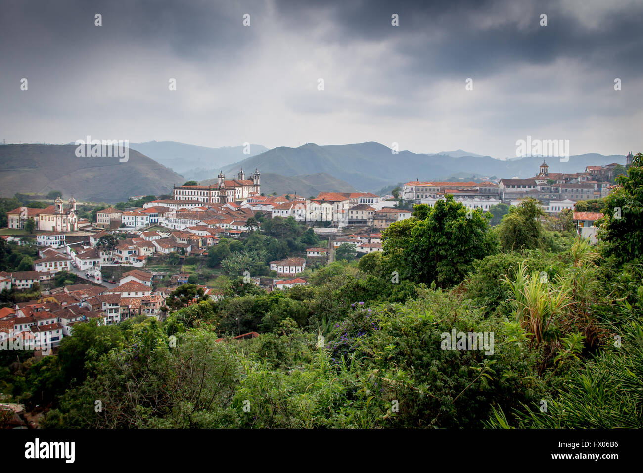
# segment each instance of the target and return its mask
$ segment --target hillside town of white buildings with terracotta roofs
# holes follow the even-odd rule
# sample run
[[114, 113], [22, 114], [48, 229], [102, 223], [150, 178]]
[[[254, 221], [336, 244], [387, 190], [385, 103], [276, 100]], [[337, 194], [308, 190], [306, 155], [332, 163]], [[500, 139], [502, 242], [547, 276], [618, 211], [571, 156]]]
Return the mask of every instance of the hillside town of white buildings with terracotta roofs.
[[[630, 153], [627, 164], [631, 157]], [[234, 179], [220, 173], [216, 185], [195, 181], [175, 185], [172, 198], [132, 196], [132, 202], [145, 202], [140, 207], [125, 203], [120, 209], [98, 209], [93, 222], [78, 217], [73, 196], [66, 205], [59, 197], [42, 209], [18, 207], [6, 212], [7, 227], [16, 232], [28, 229], [35, 239], [5, 235], [3, 243], [35, 244], [37, 258], [28, 270], [0, 272], [5, 294], [0, 336], [41, 337], [55, 349], [71, 335], [75, 324], [87, 320], [116, 324], [140, 315], [163, 319], [168, 295], [183, 284], [195, 284], [215, 300], [222, 297], [221, 286], [211, 284], [218, 275], [244, 276], [245, 281], [268, 291], [305, 285], [312, 269], [332, 263], [339, 254], [353, 259], [381, 252], [382, 230], [410, 218], [413, 204], [433, 207], [448, 194], [469, 210], [490, 212], [498, 205], [515, 207], [525, 198], [534, 198], [550, 216], [573, 212], [579, 201], [610, 194], [617, 167], [618, 163], [612, 163], [561, 174], [548, 172], [543, 161], [529, 179], [408, 181], [394, 191], [395, 197], [321, 192], [316, 198], [264, 196], [260, 173], [255, 170], [246, 179], [241, 169]], [[574, 212], [574, 225], [579, 234], [595, 239], [593, 222], [601, 216], [599, 212]], [[275, 253], [278, 259], [233, 269], [217, 257], [217, 251], [226, 253], [223, 250], [230, 243], [240, 245], [267, 227], [273, 236], [278, 232], [289, 236], [288, 229], [273, 228], [289, 219], [307, 229], [303, 241], [309, 245], [284, 245], [285, 250]], [[208, 273], [206, 277], [213, 278], [203, 281], [197, 268], [206, 266], [224, 269]], [[11, 292], [33, 293], [33, 299], [7, 304]]]

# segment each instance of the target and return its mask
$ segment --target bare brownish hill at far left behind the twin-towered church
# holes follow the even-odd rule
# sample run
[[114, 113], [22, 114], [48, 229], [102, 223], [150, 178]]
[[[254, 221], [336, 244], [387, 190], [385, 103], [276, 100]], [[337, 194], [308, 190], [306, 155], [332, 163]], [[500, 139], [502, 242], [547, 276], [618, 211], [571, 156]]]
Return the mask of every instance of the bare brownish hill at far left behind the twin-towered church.
[[78, 200], [113, 203], [129, 196], [171, 194], [185, 179], [129, 150], [129, 160], [77, 158], [75, 145], [0, 145], [0, 196], [60, 190]]

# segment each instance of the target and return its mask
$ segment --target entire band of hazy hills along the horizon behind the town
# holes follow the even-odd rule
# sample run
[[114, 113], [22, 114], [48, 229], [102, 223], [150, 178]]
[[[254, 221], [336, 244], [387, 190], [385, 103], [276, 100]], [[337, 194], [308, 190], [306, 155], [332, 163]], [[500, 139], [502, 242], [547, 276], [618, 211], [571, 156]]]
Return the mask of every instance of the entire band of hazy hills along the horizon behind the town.
[[[186, 180], [215, 183], [220, 169], [227, 178], [235, 178], [243, 167], [246, 175], [255, 168], [261, 172], [264, 194], [296, 192], [308, 197], [332, 191], [378, 192], [416, 179], [528, 178], [543, 162], [540, 157], [496, 160], [459, 149], [442, 154], [392, 154], [390, 148], [376, 142], [278, 147], [255, 156], [244, 155], [243, 147], [213, 149], [149, 142], [131, 145], [127, 163], [119, 163], [117, 158], [77, 158], [75, 149], [75, 145], [0, 145], [0, 195], [60, 190], [65, 196], [73, 192], [77, 199], [113, 203], [133, 195], [168, 194], [173, 184]], [[261, 149], [265, 148], [251, 145], [251, 153]], [[248, 157], [239, 159], [241, 156]], [[625, 156], [581, 154], [570, 156], [568, 162], [545, 160], [550, 172], [577, 172], [587, 165], [624, 164]]]

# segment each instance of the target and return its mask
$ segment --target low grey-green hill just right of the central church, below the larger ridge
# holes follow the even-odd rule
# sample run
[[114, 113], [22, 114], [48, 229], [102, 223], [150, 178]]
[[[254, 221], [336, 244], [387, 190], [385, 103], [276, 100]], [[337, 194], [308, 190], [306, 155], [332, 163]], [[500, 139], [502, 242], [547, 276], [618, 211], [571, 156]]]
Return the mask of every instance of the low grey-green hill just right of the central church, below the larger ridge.
[[[226, 176], [231, 178], [232, 176]], [[215, 184], [217, 179], [207, 179], [201, 184]], [[302, 176], [281, 176], [273, 172], [262, 172], [261, 192], [266, 196], [276, 192], [279, 195], [297, 194], [298, 196], [317, 196], [320, 192], [356, 192], [356, 189], [340, 179], [325, 172], [305, 174]]]

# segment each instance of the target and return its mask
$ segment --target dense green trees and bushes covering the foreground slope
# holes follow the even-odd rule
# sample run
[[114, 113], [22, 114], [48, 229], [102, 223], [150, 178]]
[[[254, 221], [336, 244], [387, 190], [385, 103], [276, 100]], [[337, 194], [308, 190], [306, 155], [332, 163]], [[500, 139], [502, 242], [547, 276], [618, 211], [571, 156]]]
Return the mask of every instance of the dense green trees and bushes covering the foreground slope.
[[[534, 202], [493, 228], [452, 199], [420, 205], [383, 254], [309, 286], [185, 287], [163, 322], [83, 324], [41, 360], [0, 353], [0, 390], [49, 409], [48, 428], [643, 427], [642, 165], [602, 201], [597, 246]], [[493, 344], [446, 346], [454, 331]]]

